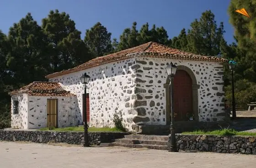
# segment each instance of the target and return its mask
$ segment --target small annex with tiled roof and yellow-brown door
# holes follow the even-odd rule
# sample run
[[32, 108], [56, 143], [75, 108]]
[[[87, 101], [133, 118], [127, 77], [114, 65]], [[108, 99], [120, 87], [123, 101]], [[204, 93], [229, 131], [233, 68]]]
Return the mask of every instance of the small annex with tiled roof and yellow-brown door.
[[77, 97], [59, 82], [34, 81], [11, 95], [11, 127], [38, 129], [78, 125]]

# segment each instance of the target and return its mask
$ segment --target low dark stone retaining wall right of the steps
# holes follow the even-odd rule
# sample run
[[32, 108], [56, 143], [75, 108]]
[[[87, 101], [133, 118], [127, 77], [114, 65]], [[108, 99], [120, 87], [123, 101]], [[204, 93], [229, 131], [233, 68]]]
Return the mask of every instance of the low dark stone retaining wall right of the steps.
[[250, 136], [176, 134], [176, 145], [181, 151], [256, 154], [256, 137]]

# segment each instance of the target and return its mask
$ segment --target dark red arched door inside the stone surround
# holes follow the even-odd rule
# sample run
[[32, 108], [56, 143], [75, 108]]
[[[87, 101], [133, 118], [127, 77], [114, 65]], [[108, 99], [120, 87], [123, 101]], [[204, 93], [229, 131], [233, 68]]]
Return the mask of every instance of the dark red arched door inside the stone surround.
[[188, 121], [187, 113], [193, 112], [192, 79], [186, 71], [177, 70], [173, 83], [175, 121]]

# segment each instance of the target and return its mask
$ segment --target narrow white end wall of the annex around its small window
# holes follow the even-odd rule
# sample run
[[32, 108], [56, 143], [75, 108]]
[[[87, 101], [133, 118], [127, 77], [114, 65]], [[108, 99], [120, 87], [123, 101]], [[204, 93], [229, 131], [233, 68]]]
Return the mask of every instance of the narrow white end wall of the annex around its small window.
[[[13, 114], [13, 101], [19, 101], [19, 113]], [[11, 127], [27, 129], [27, 94], [11, 96]]]

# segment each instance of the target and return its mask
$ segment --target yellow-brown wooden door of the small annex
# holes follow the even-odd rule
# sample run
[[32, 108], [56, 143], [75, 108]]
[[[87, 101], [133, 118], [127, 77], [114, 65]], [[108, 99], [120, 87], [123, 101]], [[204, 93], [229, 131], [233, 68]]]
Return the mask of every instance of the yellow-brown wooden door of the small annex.
[[58, 127], [58, 99], [47, 99], [47, 127]]

